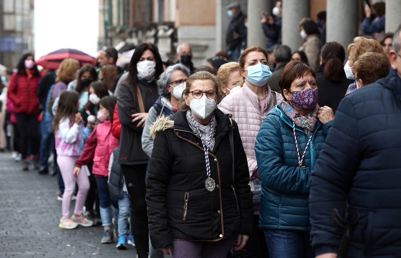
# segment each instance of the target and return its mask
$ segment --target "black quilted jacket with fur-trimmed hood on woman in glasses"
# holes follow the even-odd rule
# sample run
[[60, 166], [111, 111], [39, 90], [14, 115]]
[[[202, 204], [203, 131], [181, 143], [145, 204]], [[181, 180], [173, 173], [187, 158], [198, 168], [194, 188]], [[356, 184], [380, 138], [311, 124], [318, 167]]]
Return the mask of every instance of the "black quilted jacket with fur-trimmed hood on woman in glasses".
[[[247, 157], [238, 126], [219, 109], [215, 146], [209, 150], [211, 177], [216, 188], [205, 188], [206, 162], [201, 139], [190, 129], [185, 112], [178, 111], [169, 125], [160, 125], [150, 159], [146, 202], [149, 234], [154, 248], [172, 246], [172, 240], [218, 241], [252, 230], [252, 194]], [[164, 120], [167, 124], [168, 121]], [[233, 130], [235, 183], [229, 131]], [[157, 130], [156, 130], [157, 131]]]

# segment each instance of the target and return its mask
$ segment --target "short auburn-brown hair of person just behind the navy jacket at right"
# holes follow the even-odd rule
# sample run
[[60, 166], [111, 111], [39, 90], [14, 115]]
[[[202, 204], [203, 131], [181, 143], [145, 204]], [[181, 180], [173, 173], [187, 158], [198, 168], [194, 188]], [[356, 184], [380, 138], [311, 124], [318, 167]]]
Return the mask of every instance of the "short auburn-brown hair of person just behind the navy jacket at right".
[[390, 71], [389, 57], [386, 54], [368, 52], [359, 56], [354, 63], [355, 77], [362, 79], [363, 85], [386, 77]]

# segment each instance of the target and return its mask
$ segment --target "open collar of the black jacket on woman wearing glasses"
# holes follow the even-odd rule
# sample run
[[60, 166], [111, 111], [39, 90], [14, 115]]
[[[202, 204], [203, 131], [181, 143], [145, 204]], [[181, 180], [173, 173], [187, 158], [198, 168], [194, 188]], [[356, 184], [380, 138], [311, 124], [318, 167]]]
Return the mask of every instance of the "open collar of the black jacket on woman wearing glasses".
[[[227, 133], [228, 130], [233, 130], [233, 126], [230, 125], [230, 120], [221, 110], [218, 108], [213, 111], [216, 117], [216, 133], [215, 133], [215, 147], [218, 146], [221, 138]], [[178, 131], [178, 134], [192, 142], [198, 141], [198, 136], [195, 136], [192, 129], [189, 127], [188, 121], [185, 117], [186, 111], [178, 110], [174, 115], [174, 130]], [[172, 116], [170, 116], [172, 117]], [[177, 132], [176, 132], [177, 133]]]

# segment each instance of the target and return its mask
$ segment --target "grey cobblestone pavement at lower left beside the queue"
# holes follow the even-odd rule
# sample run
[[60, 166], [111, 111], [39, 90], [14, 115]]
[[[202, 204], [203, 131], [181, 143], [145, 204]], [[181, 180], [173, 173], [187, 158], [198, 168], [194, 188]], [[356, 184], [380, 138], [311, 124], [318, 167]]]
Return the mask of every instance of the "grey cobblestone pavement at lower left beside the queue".
[[57, 194], [57, 176], [21, 171], [9, 152], [0, 153], [0, 257], [136, 257], [133, 246], [117, 250], [116, 240], [101, 244], [101, 226], [59, 228]]

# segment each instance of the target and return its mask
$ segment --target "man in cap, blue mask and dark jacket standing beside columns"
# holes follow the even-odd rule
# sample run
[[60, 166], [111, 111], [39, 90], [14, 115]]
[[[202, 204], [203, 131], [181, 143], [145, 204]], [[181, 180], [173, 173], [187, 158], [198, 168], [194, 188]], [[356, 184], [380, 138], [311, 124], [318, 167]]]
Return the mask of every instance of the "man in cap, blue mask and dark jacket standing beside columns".
[[226, 36], [227, 51], [230, 55], [230, 60], [237, 62], [241, 54], [243, 35], [247, 31], [244, 25], [245, 15], [241, 12], [241, 6], [238, 3], [232, 3], [227, 6], [227, 15], [231, 18]]

